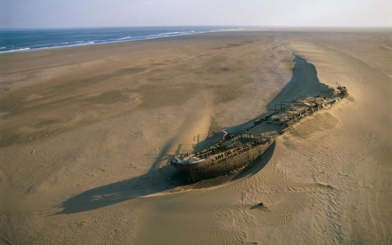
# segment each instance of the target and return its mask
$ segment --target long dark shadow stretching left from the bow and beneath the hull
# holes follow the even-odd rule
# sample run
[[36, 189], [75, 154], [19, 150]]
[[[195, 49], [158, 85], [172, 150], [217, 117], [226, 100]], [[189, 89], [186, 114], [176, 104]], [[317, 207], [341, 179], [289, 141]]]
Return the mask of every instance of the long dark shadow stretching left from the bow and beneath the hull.
[[[202, 180], [200, 183], [194, 184], [193, 188], [212, 187], [227, 181], [234, 181], [256, 174], [267, 165], [273, 155], [274, 147], [275, 144], [269, 147], [261, 158], [254, 161], [240, 172], [229, 174], [222, 178], [216, 177]], [[138, 177], [124, 179], [120, 182], [89, 189], [86, 192], [70, 197], [59, 205], [63, 210], [56, 214], [74, 214], [91, 211], [190, 184], [193, 183], [187, 172], [181, 172], [175, 170], [175, 168], [170, 165], [165, 165], [159, 169], [153, 170], [153, 172], [149, 171]]]

